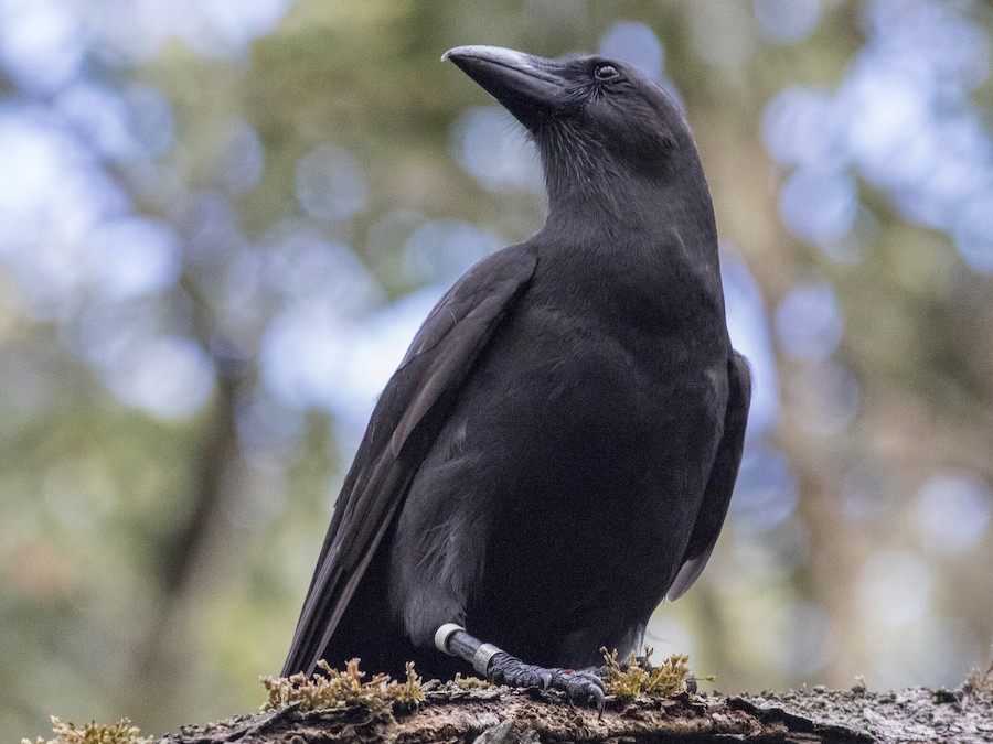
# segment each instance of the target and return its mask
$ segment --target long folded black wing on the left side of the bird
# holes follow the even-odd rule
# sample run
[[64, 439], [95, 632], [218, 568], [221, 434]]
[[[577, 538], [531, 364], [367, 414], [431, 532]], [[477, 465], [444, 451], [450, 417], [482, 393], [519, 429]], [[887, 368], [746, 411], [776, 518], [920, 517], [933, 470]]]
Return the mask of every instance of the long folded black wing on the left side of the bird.
[[528, 244], [490, 256], [448, 290], [420, 326], [345, 476], [284, 676], [313, 671], [451, 401], [536, 262]]

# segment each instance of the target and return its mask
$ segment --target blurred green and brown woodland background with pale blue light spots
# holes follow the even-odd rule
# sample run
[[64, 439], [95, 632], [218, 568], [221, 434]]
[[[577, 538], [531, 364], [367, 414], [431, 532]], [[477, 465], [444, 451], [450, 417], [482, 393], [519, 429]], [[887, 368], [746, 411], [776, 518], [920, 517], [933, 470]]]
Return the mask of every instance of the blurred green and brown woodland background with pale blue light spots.
[[684, 104], [757, 377], [708, 570], [723, 691], [959, 683], [993, 641], [993, 8], [0, 0], [0, 738], [254, 710], [375, 395], [543, 219], [441, 53]]

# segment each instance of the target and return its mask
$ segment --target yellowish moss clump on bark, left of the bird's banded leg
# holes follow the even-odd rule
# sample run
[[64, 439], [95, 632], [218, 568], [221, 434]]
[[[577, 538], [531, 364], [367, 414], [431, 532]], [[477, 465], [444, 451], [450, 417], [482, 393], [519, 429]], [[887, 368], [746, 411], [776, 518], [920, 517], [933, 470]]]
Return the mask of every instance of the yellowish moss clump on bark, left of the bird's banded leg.
[[301, 711], [344, 708], [353, 703], [377, 704], [401, 703], [414, 707], [424, 700], [420, 677], [414, 672], [414, 662], [407, 662], [407, 679], [397, 682], [388, 675], [374, 675], [367, 682], [362, 681], [364, 671], [359, 671], [359, 659], [352, 659], [343, 671], [332, 669], [327, 661], [318, 661], [324, 673], [297, 673], [291, 677], [261, 677], [268, 699], [263, 710], [275, 710], [286, 705], [298, 705]]

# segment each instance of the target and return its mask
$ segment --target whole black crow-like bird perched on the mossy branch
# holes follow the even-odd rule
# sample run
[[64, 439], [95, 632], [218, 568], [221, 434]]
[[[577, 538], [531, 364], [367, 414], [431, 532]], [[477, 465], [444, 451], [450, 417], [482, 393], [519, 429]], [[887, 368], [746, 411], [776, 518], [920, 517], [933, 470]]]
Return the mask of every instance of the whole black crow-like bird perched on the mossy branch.
[[469, 661], [601, 704], [598, 649], [637, 648], [697, 578], [741, 457], [713, 206], [680, 109], [629, 65], [442, 58], [534, 138], [548, 216], [455, 283], [386, 385], [282, 673]]

